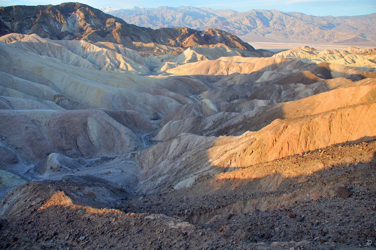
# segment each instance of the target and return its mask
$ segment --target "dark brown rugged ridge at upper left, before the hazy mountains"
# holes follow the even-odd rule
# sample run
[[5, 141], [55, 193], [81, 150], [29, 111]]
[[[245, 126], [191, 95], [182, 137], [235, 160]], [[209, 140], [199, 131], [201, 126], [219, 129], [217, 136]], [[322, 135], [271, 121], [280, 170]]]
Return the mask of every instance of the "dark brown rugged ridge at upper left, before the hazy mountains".
[[[136, 8], [134, 11], [137, 11]], [[221, 43], [242, 55], [261, 55], [248, 43], [222, 30], [198, 31], [186, 27], [154, 30], [138, 27], [81, 3], [0, 7], [0, 36], [9, 33], [35, 33], [52, 40], [111, 42], [131, 49], [141, 46], [135, 43], [147, 44], [141, 46], [144, 49], [152, 48], [155, 44], [187, 48]]]

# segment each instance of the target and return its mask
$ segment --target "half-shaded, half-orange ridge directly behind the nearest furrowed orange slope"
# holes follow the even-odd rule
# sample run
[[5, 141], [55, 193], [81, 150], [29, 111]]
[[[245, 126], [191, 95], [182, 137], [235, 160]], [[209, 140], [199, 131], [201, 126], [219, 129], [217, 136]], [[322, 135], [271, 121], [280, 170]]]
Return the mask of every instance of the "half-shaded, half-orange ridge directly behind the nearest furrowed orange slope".
[[[182, 133], [204, 136], [239, 135], [248, 130], [260, 130], [274, 119], [303, 117], [375, 99], [374, 79], [369, 81], [364, 79], [355, 83], [348, 80], [348, 85], [340, 86], [335, 86], [333, 80], [313, 84], [311, 93], [315, 95], [297, 101], [254, 99], [223, 103], [221, 109], [225, 109], [223, 111], [226, 112], [219, 112], [209, 117], [196, 116], [170, 121], [162, 127], [155, 139], [167, 140]], [[331, 91], [327, 91], [328, 82], [332, 82]], [[341, 83], [344, 82], [346, 81]], [[320, 93], [320, 91], [326, 92]]]

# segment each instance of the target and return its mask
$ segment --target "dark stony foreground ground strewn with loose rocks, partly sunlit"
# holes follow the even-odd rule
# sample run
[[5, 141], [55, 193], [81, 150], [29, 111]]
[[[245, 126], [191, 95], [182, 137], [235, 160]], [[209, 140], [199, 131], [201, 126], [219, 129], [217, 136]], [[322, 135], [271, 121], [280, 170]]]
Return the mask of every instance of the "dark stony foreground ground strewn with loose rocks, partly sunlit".
[[376, 141], [330, 146], [124, 197], [117, 209], [80, 205], [75, 178], [28, 183], [8, 196], [19, 206], [1, 220], [0, 247], [374, 249], [365, 245], [376, 237], [375, 152]]

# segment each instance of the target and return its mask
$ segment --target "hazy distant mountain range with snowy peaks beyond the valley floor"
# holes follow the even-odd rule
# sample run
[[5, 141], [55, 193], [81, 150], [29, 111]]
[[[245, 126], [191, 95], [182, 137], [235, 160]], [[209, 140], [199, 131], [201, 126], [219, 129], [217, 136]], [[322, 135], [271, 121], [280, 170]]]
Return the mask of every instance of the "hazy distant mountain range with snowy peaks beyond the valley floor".
[[315, 17], [299, 12], [252, 9], [245, 12], [230, 9], [159, 8], [109, 9], [102, 11], [122, 18], [127, 23], [158, 29], [189, 27], [221, 29], [244, 41], [259, 42], [334, 42], [358, 43], [376, 41], [376, 13], [360, 16]]

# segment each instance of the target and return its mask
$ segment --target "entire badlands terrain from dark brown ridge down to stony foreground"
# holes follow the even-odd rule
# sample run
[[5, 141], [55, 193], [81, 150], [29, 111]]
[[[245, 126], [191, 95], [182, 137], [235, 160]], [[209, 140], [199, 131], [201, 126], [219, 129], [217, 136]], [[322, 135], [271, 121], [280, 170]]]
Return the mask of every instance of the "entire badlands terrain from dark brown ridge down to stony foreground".
[[376, 49], [32, 7], [0, 8], [1, 249], [375, 249]]

